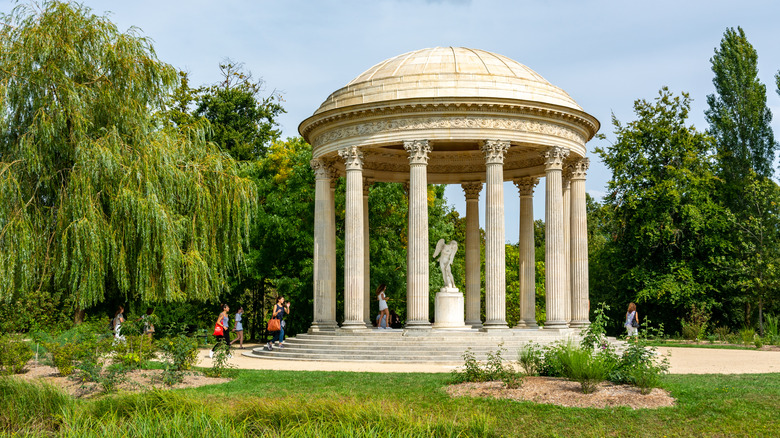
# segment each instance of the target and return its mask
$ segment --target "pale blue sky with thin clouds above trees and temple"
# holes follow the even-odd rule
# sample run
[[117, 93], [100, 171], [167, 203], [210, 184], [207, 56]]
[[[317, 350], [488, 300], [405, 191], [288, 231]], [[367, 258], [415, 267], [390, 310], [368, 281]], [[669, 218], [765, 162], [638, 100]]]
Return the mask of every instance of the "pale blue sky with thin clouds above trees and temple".
[[[16, 2], [0, 0], [8, 13]], [[612, 115], [634, 119], [633, 103], [668, 86], [693, 99], [690, 123], [707, 128], [714, 93], [710, 58], [729, 27], [741, 26], [758, 52], [759, 79], [780, 137], [780, 2], [774, 0], [85, 0], [120, 30], [151, 38], [160, 60], [190, 74], [193, 86], [219, 80], [226, 59], [244, 63], [281, 93], [283, 137], [328, 95], [373, 65], [436, 46], [483, 49], [512, 58], [565, 90], [601, 122], [605, 140], [588, 143], [587, 191], [601, 199], [609, 170], [593, 153], [614, 141]], [[518, 240], [519, 197], [505, 184], [506, 240]], [[459, 186], [446, 196], [462, 215]], [[480, 223], [484, 224], [484, 196]], [[544, 179], [534, 214], [544, 218]]]

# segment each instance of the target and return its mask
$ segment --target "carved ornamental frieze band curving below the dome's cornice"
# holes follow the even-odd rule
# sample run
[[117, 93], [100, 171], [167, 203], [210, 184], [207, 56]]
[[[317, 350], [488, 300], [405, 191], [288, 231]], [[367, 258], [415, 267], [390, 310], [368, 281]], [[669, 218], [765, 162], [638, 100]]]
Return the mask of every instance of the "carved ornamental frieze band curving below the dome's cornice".
[[[405, 113], [400, 113], [405, 114]], [[587, 139], [575, 129], [551, 121], [518, 119], [506, 116], [462, 115], [428, 116], [407, 115], [383, 120], [367, 120], [333, 128], [314, 136], [312, 146], [332, 143], [346, 138], [371, 136], [382, 132], [422, 131], [431, 129], [493, 129], [544, 134], [584, 145]]]

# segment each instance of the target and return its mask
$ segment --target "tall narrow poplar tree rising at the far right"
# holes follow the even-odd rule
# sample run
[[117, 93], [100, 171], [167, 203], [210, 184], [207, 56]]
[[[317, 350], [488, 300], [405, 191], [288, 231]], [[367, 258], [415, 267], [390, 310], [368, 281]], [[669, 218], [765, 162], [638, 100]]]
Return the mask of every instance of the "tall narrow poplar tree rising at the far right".
[[726, 29], [710, 63], [716, 94], [707, 96], [705, 115], [729, 205], [739, 206], [750, 169], [772, 176], [777, 150], [772, 112], [766, 106], [766, 86], [758, 79], [758, 54], [741, 27]]

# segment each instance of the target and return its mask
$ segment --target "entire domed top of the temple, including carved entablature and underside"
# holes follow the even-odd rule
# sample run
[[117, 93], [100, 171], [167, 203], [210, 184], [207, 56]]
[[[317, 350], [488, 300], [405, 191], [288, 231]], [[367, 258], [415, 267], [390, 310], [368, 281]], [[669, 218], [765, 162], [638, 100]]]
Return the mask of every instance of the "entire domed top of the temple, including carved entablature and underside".
[[565, 91], [505, 56], [462, 47], [436, 47], [383, 61], [333, 92], [298, 131], [312, 157], [344, 174], [339, 152], [355, 146], [363, 175], [405, 181], [405, 142], [425, 140], [432, 184], [484, 181], [488, 140], [508, 142], [504, 178], [543, 176], [542, 153], [585, 157], [599, 122]]

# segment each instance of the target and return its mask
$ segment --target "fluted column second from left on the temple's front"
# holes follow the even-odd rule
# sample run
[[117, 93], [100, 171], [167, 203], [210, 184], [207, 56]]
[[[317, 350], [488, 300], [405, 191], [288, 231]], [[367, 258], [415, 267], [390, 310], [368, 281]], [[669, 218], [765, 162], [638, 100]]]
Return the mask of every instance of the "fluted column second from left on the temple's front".
[[344, 224], [344, 329], [365, 329], [363, 322], [363, 153], [357, 146], [339, 151], [347, 172]]

